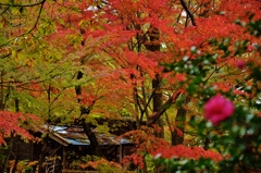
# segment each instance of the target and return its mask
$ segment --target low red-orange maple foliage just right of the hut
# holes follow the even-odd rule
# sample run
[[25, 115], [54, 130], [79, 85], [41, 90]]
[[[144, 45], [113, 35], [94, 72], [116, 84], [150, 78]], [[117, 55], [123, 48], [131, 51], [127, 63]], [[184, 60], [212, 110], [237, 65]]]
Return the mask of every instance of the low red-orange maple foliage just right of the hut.
[[125, 157], [123, 163], [128, 165], [134, 163], [139, 169], [144, 168], [145, 155], [151, 155], [156, 158], [165, 159], [194, 159], [200, 158], [211, 159], [213, 161], [221, 161], [222, 155], [213, 150], [204, 150], [202, 147], [187, 147], [184, 145], [172, 146], [162, 138], [153, 135], [152, 128], [142, 127], [142, 131], [133, 131], [124, 134], [123, 137], [128, 137], [135, 143], [135, 151], [128, 157]]

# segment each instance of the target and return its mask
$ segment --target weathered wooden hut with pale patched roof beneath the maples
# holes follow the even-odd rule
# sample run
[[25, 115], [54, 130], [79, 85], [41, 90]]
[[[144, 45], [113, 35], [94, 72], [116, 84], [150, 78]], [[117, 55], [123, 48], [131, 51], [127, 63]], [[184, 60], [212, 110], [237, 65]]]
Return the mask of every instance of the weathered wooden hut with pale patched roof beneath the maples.
[[[45, 155], [44, 164], [47, 172], [75, 170], [75, 160], [91, 155], [90, 141], [80, 126], [45, 125], [39, 131], [42, 134], [48, 132], [51, 139], [48, 141], [48, 151]], [[134, 145], [128, 139], [119, 138], [110, 133], [98, 133], [95, 128], [92, 131], [96, 133], [102, 153], [109, 161], [121, 163], [122, 159], [130, 153]]]

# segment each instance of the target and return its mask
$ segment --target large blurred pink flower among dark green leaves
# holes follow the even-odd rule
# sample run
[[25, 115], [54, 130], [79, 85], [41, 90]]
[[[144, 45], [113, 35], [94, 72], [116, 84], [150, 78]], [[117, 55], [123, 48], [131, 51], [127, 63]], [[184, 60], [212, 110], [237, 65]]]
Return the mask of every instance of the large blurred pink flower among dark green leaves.
[[234, 104], [231, 100], [216, 95], [204, 104], [204, 118], [210, 120], [213, 125], [219, 125], [222, 121], [232, 116]]

